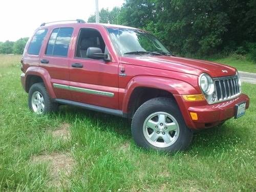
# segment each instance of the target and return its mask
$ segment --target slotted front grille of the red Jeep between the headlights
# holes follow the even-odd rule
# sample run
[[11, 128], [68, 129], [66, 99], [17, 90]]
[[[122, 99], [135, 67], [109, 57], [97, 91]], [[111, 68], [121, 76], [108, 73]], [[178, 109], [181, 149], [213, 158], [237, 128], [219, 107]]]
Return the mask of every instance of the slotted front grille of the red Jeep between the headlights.
[[241, 93], [237, 75], [215, 78], [214, 83], [217, 101], [231, 99]]

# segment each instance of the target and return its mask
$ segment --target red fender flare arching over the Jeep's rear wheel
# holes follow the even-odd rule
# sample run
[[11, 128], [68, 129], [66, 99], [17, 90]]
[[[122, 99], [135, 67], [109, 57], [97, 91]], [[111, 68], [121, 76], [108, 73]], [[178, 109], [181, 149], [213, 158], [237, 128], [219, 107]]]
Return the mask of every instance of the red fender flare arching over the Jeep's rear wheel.
[[41, 67], [37, 67], [37, 66], [32, 66], [32, 67], [29, 67], [25, 73], [25, 85], [26, 85], [26, 91], [28, 92], [28, 88], [27, 88], [27, 80], [28, 80], [28, 76], [29, 75], [36, 75], [36, 76], [39, 76], [41, 77], [42, 81], [44, 81], [44, 84], [45, 84], [45, 87], [50, 95], [50, 97], [53, 99], [53, 98], [56, 98], [56, 95], [53, 91], [53, 87], [52, 87], [52, 83], [51, 83], [51, 76], [49, 74], [49, 72], [44, 69], [44, 68], [41, 68]]

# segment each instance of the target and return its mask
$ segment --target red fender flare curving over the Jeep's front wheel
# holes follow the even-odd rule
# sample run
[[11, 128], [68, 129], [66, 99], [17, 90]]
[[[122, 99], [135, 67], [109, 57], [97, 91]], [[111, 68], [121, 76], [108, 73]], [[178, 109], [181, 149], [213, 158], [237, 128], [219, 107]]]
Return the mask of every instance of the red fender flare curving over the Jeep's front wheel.
[[125, 88], [122, 104], [122, 111], [124, 113], [128, 112], [129, 101], [133, 91], [139, 87], [161, 89], [173, 95], [200, 94], [191, 84], [182, 80], [145, 75], [136, 76], [129, 81]]

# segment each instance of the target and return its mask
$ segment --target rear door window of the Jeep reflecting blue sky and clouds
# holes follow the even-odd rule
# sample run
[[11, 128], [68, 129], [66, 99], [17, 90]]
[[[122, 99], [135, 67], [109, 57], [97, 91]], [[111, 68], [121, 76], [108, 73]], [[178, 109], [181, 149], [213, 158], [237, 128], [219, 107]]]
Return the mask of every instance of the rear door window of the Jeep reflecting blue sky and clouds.
[[46, 55], [66, 57], [68, 55], [73, 28], [54, 29], [49, 39]]

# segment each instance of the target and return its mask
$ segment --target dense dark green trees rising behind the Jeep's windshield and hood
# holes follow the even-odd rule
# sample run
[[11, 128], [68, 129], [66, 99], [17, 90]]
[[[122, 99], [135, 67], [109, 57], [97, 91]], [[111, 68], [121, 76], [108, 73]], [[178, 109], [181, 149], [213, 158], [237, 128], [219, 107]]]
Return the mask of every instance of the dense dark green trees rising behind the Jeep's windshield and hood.
[[254, 52], [256, 60], [255, 0], [126, 0], [99, 16], [101, 23], [145, 29], [178, 55]]

